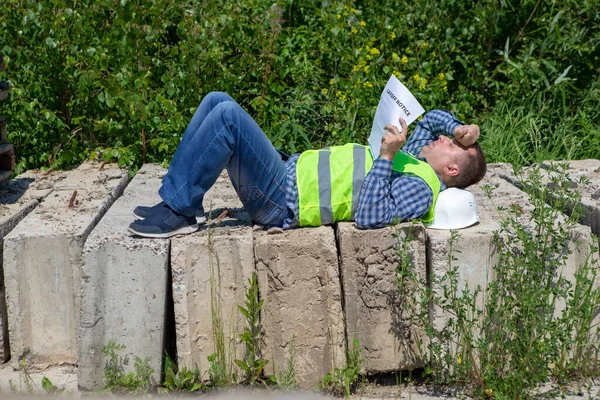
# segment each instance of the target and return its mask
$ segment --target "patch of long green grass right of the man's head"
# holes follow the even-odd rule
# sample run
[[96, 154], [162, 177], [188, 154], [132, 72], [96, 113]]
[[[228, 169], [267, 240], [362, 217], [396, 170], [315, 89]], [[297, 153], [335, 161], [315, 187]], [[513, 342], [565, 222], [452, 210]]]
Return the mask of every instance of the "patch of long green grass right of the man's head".
[[[481, 122], [481, 146], [488, 162], [520, 167], [545, 160], [600, 159], [597, 84], [565, 104], [566, 93], [531, 93], [501, 100]], [[565, 100], [566, 101], [566, 100]]]

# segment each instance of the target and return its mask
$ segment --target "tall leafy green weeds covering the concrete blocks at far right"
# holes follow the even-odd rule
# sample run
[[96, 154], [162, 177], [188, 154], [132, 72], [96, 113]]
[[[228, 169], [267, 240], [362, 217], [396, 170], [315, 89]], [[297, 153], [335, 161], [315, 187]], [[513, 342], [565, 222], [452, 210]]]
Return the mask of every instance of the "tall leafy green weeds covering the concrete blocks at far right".
[[[430, 272], [411, 300], [429, 310], [413, 320], [425, 327], [420, 347], [435, 382], [463, 385], [476, 398], [531, 398], [544, 383], [560, 388], [600, 372], [598, 239], [577, 226], [579, 193], [563, 170], [515, 172], [530, 206], [496, 206], [498, 263], [486, 287], [462, 282], [460, 235], [451, 232], [448, 271]], [[493, 188], [484, 190], [493, 202]], [[410, 299], [417, 274], [399, 259], [398, 284]]]

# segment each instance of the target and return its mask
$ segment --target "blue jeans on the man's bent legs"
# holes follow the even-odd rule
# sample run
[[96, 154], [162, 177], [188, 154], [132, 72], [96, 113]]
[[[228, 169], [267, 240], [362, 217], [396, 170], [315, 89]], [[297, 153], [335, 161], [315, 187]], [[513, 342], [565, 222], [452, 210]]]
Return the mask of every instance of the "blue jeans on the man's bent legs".
[[227, 168], [252, 219], [283, 226], [286, 168], [256, 122], [225, 93], [202, 100], [190, 121], [158, 193], [175, 211], [204, 211], [204, 194]]

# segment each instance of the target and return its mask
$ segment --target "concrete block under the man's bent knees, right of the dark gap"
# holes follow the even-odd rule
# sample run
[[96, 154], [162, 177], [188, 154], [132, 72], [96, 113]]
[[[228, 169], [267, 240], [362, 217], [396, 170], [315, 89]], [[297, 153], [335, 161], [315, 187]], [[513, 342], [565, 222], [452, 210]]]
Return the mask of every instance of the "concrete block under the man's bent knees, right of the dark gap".
[[202, 372], [216, 352], [216, 332], [223, 335], [228, 364], [243, 357], [239, 334], [245, 319], [237, 306], [244, 305], [254, 271], [250, 217], [225, 172], [206, 193], [204, 205], [208, 223], [171, 240], [178, 365]]

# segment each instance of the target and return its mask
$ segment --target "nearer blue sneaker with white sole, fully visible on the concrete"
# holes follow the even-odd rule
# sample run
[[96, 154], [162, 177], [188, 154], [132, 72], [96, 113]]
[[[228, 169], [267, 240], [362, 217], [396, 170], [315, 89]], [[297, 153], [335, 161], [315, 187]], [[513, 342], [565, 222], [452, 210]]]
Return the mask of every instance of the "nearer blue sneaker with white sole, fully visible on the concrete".
[[198, 230], [196, 217], [178, 214], [166, 204], [149, 208], [153, 209], [152, 214], [147, 215], [143, 220], [132, 222], [129, 225], [129, 232], [142, 237], [168, 238]]

